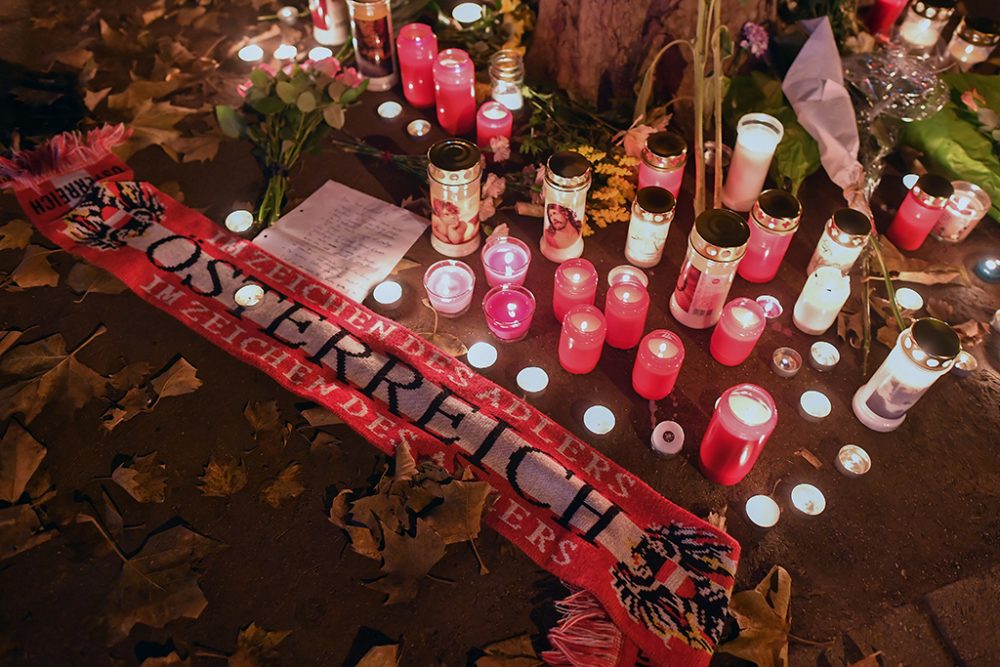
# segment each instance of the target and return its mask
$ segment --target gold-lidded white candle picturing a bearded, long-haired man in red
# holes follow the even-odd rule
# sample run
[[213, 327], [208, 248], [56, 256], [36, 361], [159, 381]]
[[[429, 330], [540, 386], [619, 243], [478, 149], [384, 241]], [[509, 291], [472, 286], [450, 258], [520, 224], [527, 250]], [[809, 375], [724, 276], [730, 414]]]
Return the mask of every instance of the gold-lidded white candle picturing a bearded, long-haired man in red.
[[583, 254], [591, 165], [576, 151], [553, 153], [545, 163], [545, 214], [540, 247], [551, 262]]

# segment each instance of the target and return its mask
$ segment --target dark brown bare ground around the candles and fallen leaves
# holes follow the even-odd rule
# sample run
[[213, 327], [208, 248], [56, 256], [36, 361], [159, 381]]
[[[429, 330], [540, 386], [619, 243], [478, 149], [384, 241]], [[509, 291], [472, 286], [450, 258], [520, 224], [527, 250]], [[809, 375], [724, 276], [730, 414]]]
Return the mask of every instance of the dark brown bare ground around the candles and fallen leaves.
[[[35, 34], [44, 39], [44, 33]], [[0, 46], [0, 53], [16, 59], [22, 47], [23, 43], [10, 42]], [[123, 68], [126, 65], [122, 63]], [[407, 110], [402, 122], [392, 125], [375, 117], [375, 107], [386, 97], [368, 95], [352, 110], [352, 129], [359, 136], [383, 135], [403, 151], [424, 150], [426, 141], [407, 139], [400, 131], [415, 112]], [[154, 184], [177, 181], [187, 205], [205, 208], [220, 221], [234, 203], [253, 200], [261, 188], [255, 163], [238, 144], [224, 144], [218, 157], [206, 164], [177, 165], [155, 148], [137, 154], [131, 164], [140, 179]], [[292, 195], [307, 196], [331, 178], [397, 203], [417, 194], [415, 182], [391, 167], [327, 150], [305, 160], [293, 179]], [[788, 345], [805, 355], [815, 340], [793, 328], [791, 306], [823, 222], [840, 206], [839, 193], [817, 175], [802, 189], [805, 219], [777, 279], [765, 286], [738, 279], [732, 292], [751, 297], [773, 294], [786, 313], [769, 325], [750, 360], [724, 368], [708, 354], [709, 332], [679, 327], [666, 307], [692, 222], [692, 185], [685, 185], [687, 196], [681, 197], [666, 257], [650, 271], [653, 306], [648, 327], [677, 331], [687, 349], [677, 389], [655, 406], [655, 415], [628, 388], [632, 353], [606, 349], [598, 369], [582, 378], [571, 379], [560, 370], [555, 354], [558, 327], [547, 306], [554, 266], [537, 255], [527, 280], [540, 304], [530, 340], [501, 346], [498, 364], [485, 374], [514, 388], [520, 368], [542, 366], [553, 381], [533, 401], [542, 411], [696, 514], [728, 507], [729, 531], [743, 545], [737, 589], [755, 585], [774, 564], [784, 566], [793, 578], [797, 636], [839, 642], [842, 633], [850, 632], [867, 637], [862, 641], [882, 648], [887, 657], [911, 665], [946, 665], [959, 659], [970, 665], [1000, 664], [988, 648], [983, 654], [963, 654], [958, 647], [971, 641], [965, 636], [977, 634], [968, 631], [970, 623], [983, 627], [983, 620], [997, 609], [995, 590], [985, 593], [985, 584], [995, 581], [990, 568], [1000, 554], [996, 337], [976, 350], [979, 373], [965, 379], [943, 378], [891, 434], [873, 433], [854, 418], [850, 399], [863, 382], [861, 357], [835, 332], [821, 337], [843, 353], [833, 372], [820, 374], [806, 367], [791, 380], [773, 375], [768, 365], [772, 350]], [[5, 218], [15, 214], [12, 198], [2, 203]], [[537, 221], [501, 212], [498, 221], [504, 219], [512, 223], [517, 236], [532, 244], [537, 240]], [[624, 262], [625, 232], [625, 225], [617, 225], [588, 239], [584, 256], [602, 275]], [[998, 245], [1000, 227], [987, 221], [961, 245], [930, 241], [916, 254], [971, 268], [984, 251]], [[424, 266], [434, 261], [426, 236], [410, 256]], [[13, 268], [19, 257], [17, 252], [0, 254], [0, 270]], [[54, 263], [65, 276], [73, 261], [59, 255]], [[478, 262], [471, 264], [484, 285]], [[431, 324], [419, 303], [419, 278], [420, 271], [403, 274], [405, 304], [395, 314], [418, 330]], [[970, 286], [918, 289], [925, 298], [949, 301], [956, 322], [988, 320], [1000, 307], [1000, 289], [975, 278]], [[477, 296], [483, 291], [478, 287]], [[75, 303], [76, 298], [62, 285], [5, 293], [0, 299], [0, 322], [3, 328], [34, 327], [26, 340], [60, 332], [71, 345], [104, 324], [108, 333], [81, 355], [99, 372], [115, 371], [123, 360], [149, 361], [159, 368], [180, 354], [198, 369], [204, 386], [164, 401], [153, 413], [140, 415], [110, 434], [100, 425], [106, 408], [100, 402], [71, 420], [45, 415], [36, 420], [31, 430], [48, 447], [45, 464], [58, 491], [51, 501], [52, 514], [70, 516], [84, 496], [98, 499], [103, 486], [124, 517], [126, 552], [136, 549], [150, 531], [178, 520], [229, 547], [206, 560], [201, 582], [209, 602], [199, 619], [177, 621], [162, 630], [137, 626], [127, 640], [108, 648], [98, 619], [120, 562], [88, 526], [64, 527], [60, 537], [0, 562], [0, 628], [5, 636], [0, 655], [8, 655], [11, 664], [104, 665], [109, 653], [124, 664], [134, 664], [157, 651], [154, 645], [171, 642], [185, 650], [229, 653], [239, 629], [255, 621], [268, 629], [293, 630], [281, 645], [282, 664], [353, 664], [357, 651], [352, 652], [352, 643], [359, 629], [369, 628], [403, 643], [403, 664], [460, 665], [476, 647], [539, 631], [537, 623], [550, 615], [548, 603], [559, 595], [558, 585], [489, 531], [479, 543], [489, 575], [478, 574], [470, 550], [454, 546], [435, 568], [435, 574], [453, 583], [428, 580], [416, 602], [383, 607], [381, 595], [362, 586], [364, 579], [375, 575], [377, 565], [345, 548], [345, 538], [326, 518], [329, 489], [363, 486], [379, 469], [375, 450], [343, 430], [338, 433], [341, 451], [333, 457], [310, 454], [308, 443], [294, 438], [281, 452], [251, 451], [251, 430], [242, 414], [247, 401], [277, 399], [291, 419], [296, 415], [295, 396], [130, 294], [95, 294], [82, 303]], [[598, 298], [601, 303], [603, 286]], [[488, 339], [475, 309], [443, 328], [467, 344]], [[876, 344], [873, 361], [880, 362], [886, 352]], [[698, 472], [697, 444], [716, 397], [742, 381], [770, 390], [781, 417], [746, 480], [720, 487]], [[796, 413], [797, 397], [810, 388], [823, 390], [833, 401], [833, 415], [819, 424], [807, 423]], [[587, 437], [582, 426], [582, 409], [594, 402], [609, 405], [618, 416], [616, 429], [602, 438]], [[680, 422], [687, 432], [684, 453], [673, 460], [657, 459], [644, 444], [651, 425], [662, 419]], [[871, 473], [863, 479], [845, 479], [832, 465], [839, 447], [849, 442], [863, 446], [874, 459]], [[814, 469], [796, 455], [803, 448], [823, 462], [822, 468]], [[108, 476], [119, 455], [153, 450], [169, 472], [166, 502], [138, 504]], [[195, 486], [212, 454], [242, 456], [247, 463], [250, 482], [230, 501], [202, 497]], [[293, 460], [304, 467], [305, 493], [285, 509], [261, 505], [256, 489]], [[821, 516], [806, 517], [791, 510], [788, 494], [799, 482], [816, 484], [826, 494], [828, 505]], [[769, 531], [755, 530], [742, 513], [743, 503], [753, 494], [772, 491], [783, 508], [781, 521]], [[960, 580], [964, 583], [944, 588]], [[942, 597], [949, 593], [957, 599]], [[966, 605], [981, 611], [956, 624]], [[951, 653], [932, 629], [932, 611], [942, 634], [952, 642]], [[814, 649], [793, 647], [793, 656], [801, 661], [793, 664], [814, 664], [814, 654]], [[216, 662], [213, 657], [196, 658], [196, 664]]]

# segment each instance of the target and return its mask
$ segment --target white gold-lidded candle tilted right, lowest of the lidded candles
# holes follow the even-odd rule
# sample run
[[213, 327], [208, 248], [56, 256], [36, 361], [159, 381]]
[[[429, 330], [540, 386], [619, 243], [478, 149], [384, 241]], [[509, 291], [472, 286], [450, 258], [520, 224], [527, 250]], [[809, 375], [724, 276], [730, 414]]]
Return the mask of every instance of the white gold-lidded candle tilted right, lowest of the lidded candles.
[[857, 393], [852, 407], [873, 431], [892, 431], [934, 381], [951, 370], [962, 351], [958, 334], [933, 317], [916, 320], [896, 339], [879, 369]]

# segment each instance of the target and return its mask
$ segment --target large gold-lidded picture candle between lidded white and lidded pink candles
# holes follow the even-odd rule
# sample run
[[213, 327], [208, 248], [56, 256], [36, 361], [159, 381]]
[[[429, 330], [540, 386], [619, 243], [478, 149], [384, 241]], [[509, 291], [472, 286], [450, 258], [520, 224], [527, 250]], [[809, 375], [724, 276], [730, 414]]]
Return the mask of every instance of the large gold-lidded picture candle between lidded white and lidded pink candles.
[[749, 238], [746, 220], [732, 211], [713, 208], [698, 216], [670, 296], [674, 319], [692, 329], [707, 329], [719, 321]]

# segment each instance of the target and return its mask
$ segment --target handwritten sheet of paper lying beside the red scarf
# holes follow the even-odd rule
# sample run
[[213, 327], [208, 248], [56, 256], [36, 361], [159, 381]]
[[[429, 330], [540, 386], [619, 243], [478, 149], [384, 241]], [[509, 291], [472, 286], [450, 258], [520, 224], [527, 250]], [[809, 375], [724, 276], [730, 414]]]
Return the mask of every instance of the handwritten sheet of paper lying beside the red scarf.
[[360, 302], [427, 224], [406, 209], [327, 181], [254, 243]]

